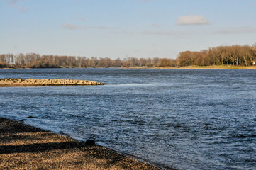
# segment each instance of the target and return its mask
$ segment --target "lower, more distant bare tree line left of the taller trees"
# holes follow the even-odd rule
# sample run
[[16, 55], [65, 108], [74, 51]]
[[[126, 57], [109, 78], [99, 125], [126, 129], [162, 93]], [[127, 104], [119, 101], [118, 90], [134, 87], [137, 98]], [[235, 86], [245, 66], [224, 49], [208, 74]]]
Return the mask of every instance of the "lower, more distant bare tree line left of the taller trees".
[[174, 67], [175, 60], [167, 58], [128, 57], [112, 60], [108, 57], [75, 57], [57, 55], [3, 54], [0, 55], [0, 67], [9, 68], [60, 68], [60, 67]]

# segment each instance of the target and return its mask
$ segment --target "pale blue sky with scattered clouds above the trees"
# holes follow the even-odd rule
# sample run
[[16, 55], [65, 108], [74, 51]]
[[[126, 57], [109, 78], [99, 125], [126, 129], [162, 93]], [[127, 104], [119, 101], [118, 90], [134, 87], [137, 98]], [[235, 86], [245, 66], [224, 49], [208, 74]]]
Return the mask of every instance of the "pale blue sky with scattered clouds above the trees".
[[256, 0], [0, 0], [0, 54], [176, 58], [256, 42]]

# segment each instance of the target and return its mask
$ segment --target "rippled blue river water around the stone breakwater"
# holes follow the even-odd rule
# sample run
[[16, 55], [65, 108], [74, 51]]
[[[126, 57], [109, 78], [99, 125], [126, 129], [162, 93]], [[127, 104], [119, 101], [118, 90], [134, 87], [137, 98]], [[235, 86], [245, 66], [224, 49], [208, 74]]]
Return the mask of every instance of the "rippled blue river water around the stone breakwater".
[[[256, 70], [0, 69], [0, 116], [177, 169], [256, 169]], [[33, 116], [35, 118], [28, 118]]]

